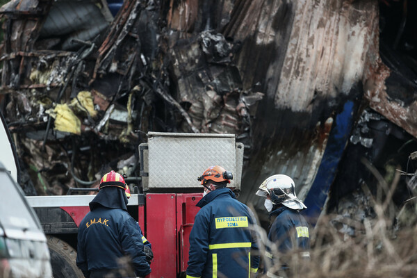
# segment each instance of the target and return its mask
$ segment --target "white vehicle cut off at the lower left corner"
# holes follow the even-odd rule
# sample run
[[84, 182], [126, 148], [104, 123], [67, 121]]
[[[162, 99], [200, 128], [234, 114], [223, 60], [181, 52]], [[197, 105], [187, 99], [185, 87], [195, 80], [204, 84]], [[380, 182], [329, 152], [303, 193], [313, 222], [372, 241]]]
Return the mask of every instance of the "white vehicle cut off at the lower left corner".
[[20, 186], [0, 163], [0, 277], [52, 277], [47, 238]]

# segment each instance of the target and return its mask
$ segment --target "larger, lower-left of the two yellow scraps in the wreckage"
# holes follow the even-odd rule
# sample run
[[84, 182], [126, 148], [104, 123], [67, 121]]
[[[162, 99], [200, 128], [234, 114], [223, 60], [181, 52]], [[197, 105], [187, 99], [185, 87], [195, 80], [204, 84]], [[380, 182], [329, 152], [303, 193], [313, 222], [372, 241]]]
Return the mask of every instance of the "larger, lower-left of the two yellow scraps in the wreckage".
[[57, 104], [54, 113], [56, 130], [81, 134], [81, 121], [67, 104]]

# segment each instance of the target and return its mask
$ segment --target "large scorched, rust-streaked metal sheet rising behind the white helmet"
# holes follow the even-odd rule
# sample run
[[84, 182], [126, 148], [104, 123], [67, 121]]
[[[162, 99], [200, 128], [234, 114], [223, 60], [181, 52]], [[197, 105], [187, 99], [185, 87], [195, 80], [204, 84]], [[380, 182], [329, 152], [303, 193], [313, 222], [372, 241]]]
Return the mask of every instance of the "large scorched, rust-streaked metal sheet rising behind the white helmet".
[[[320, 130], [329, 118], [336, 128], [335, 114], [361, 95], [366, 70], [378, 56], [377, 1], [262, 3], [246, 3], [252, 13], [236, 14], [231, 19], [236, 24], [226, 28], [227, 36], [245, 38], [236, 58], [244, 88], [258, 84], [266, 96], [254, 121], [257, 144], [244, 176], [252, 182], [243, 198], [259, 206], [254, 190], [276, 173], [293, 177], [297, 194], [306, 197], [326, 147], [332, 148], [320, 143], [329, 134]], [[259, 20], [251, 21], [253, 15]]]

